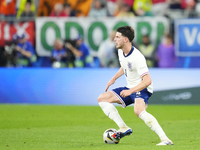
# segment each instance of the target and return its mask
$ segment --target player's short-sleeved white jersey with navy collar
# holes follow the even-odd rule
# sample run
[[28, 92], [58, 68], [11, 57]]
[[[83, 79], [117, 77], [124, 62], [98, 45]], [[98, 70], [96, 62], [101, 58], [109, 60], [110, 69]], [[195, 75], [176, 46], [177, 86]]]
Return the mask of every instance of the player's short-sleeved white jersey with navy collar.
[[[145, 57], [135, 47], [132, 47], [127, 56], [119, 49], [118, 56], [126, 77], [127, 88], [135, 87], [142, 81], [142, 76], [149, 73]], [[147, 90], [153, 93], [153, 84], [149, 85]]]

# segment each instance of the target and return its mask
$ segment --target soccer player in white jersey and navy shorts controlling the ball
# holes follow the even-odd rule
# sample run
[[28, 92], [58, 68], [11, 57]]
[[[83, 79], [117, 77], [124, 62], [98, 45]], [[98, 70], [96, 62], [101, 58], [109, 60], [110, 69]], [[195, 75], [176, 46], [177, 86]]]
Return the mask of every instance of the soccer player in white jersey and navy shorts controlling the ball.
[[[119, 126], [118, 132], [113, 135], [114, 138], [120, 139], [130, 135], [132, 129], [125, 124], [112, 103], [121, 104], [124, 108], [134, 103], [135, 114], [159, 136], [161, 142], [157, 145], [173, 145], [156, 118], [146, 111], [148, 99], [153, 93], [153, 85], [144, 56], [131, 44], [134, 37], [134, 29], [130, 26], [117, 29], [114, 41], [118, 49], [121, 68], [107, 83], [105, 93], [98, 97], [99, 106]], [[107, 91], [123, 74], [125, 74], [127, 86]]]

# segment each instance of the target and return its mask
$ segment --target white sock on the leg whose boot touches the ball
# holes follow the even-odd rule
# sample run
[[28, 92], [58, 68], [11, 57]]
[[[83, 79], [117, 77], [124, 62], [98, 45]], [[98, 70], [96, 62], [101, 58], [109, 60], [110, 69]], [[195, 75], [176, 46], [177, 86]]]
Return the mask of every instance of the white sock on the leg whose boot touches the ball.
[[99, 102], [99, 106], [106, 116], [112, 119], [119, 126], [119, 128], [127, 127], [113, 104], [109, 102]]

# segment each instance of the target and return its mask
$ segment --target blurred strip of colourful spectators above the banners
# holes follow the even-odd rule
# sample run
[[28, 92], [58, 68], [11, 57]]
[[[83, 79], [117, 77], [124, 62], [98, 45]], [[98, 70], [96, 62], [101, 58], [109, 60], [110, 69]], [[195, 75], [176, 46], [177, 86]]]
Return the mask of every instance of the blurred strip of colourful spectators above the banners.
[[199, 0], [0, 0], [1, 17], [199, 17]]

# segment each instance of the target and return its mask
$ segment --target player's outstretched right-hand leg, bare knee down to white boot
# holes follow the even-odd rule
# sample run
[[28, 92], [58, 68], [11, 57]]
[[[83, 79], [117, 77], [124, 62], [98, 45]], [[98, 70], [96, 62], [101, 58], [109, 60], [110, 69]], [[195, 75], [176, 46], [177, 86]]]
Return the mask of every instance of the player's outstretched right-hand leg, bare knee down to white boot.
[[147, 104], [145, 103], [144, 99], [136, 98], [134, 103], [134, 112], [135, 114], [142, 119], [146, 125], [154, 131], [161, 140], [161, 143], [157, 145], [173, 145], [173, 142], [166, 136], [165, 132], [159, 125], [156, 118], [146, 111]]

